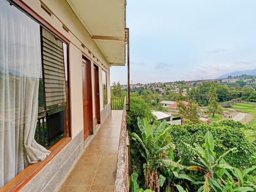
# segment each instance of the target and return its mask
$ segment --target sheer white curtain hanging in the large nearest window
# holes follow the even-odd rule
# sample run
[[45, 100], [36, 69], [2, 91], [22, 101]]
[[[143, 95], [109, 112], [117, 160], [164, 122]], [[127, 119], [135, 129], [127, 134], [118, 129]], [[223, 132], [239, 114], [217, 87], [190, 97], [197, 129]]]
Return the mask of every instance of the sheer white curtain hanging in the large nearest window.
[[34, 139], [40, 45], [39, 25], [0, 0], [0, 188], [50, 154]]

